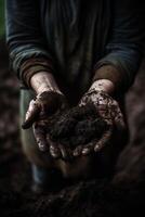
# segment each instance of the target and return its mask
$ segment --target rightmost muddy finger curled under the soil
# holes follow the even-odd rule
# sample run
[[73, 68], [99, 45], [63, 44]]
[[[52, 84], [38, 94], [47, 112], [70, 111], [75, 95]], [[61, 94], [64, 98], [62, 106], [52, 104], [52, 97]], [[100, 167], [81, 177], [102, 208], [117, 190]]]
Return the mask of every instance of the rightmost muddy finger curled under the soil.
[[109, 130], [107, 130], [102, 139], [94, 145], [94, 151], [98, 152], [100, 150], [102, 150], [111, 139], [113, 136], [113, 128], [109, 128]]

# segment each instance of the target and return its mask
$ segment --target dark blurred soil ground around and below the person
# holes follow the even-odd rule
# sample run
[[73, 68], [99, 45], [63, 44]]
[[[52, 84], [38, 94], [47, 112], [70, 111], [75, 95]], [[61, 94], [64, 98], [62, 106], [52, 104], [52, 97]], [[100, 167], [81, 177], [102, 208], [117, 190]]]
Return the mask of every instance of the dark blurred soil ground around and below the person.
[[[0, 216], [122, 217], [145, 215], [145, 91], [144, 71], [127, 94], [130, 142], [111, 179], [64, 184], [36, 196], [30, 192], [30, 167], [21, 149], [18, 81], [9, 69], [0, 42]], [[2, 49], [3, 48], [3, 49]]]

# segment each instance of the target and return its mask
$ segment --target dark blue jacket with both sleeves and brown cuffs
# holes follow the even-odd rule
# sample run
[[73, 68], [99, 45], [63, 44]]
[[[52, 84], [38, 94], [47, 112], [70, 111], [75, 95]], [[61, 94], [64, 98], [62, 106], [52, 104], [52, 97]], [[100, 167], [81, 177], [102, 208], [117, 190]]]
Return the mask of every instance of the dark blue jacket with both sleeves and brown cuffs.
[[141, 61], [140, 26], [131, 0], [6, 0], [10, 56], [26, 86], [47, 71], [76, 91], [94, 74], [126, 90]]

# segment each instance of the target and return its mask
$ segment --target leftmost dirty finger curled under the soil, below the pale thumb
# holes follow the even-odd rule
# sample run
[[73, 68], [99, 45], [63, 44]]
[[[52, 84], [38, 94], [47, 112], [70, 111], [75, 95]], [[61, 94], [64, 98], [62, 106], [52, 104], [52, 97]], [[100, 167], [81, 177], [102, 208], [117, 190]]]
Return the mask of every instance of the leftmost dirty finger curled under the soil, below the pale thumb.
[[37, 124], [34, 124], [32, 129], [39, 150], [41, 152], [47, 152], [49, 150], [49, 146], [44, 129], [41, 126], [38, 126]]

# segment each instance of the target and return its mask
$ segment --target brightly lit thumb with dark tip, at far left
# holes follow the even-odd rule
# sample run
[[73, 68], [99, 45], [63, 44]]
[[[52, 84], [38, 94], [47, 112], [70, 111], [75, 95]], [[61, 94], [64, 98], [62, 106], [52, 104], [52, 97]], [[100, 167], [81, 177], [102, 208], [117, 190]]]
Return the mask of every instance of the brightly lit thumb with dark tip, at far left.
[[36, 104], [35, 100], [31, 100], [29, 103], [28, 111], [26, 113], [25, 122], [22, 125], [23, 129], [28, 129], [34, 124], [36, 116], [39, 114], [39, 107]]

